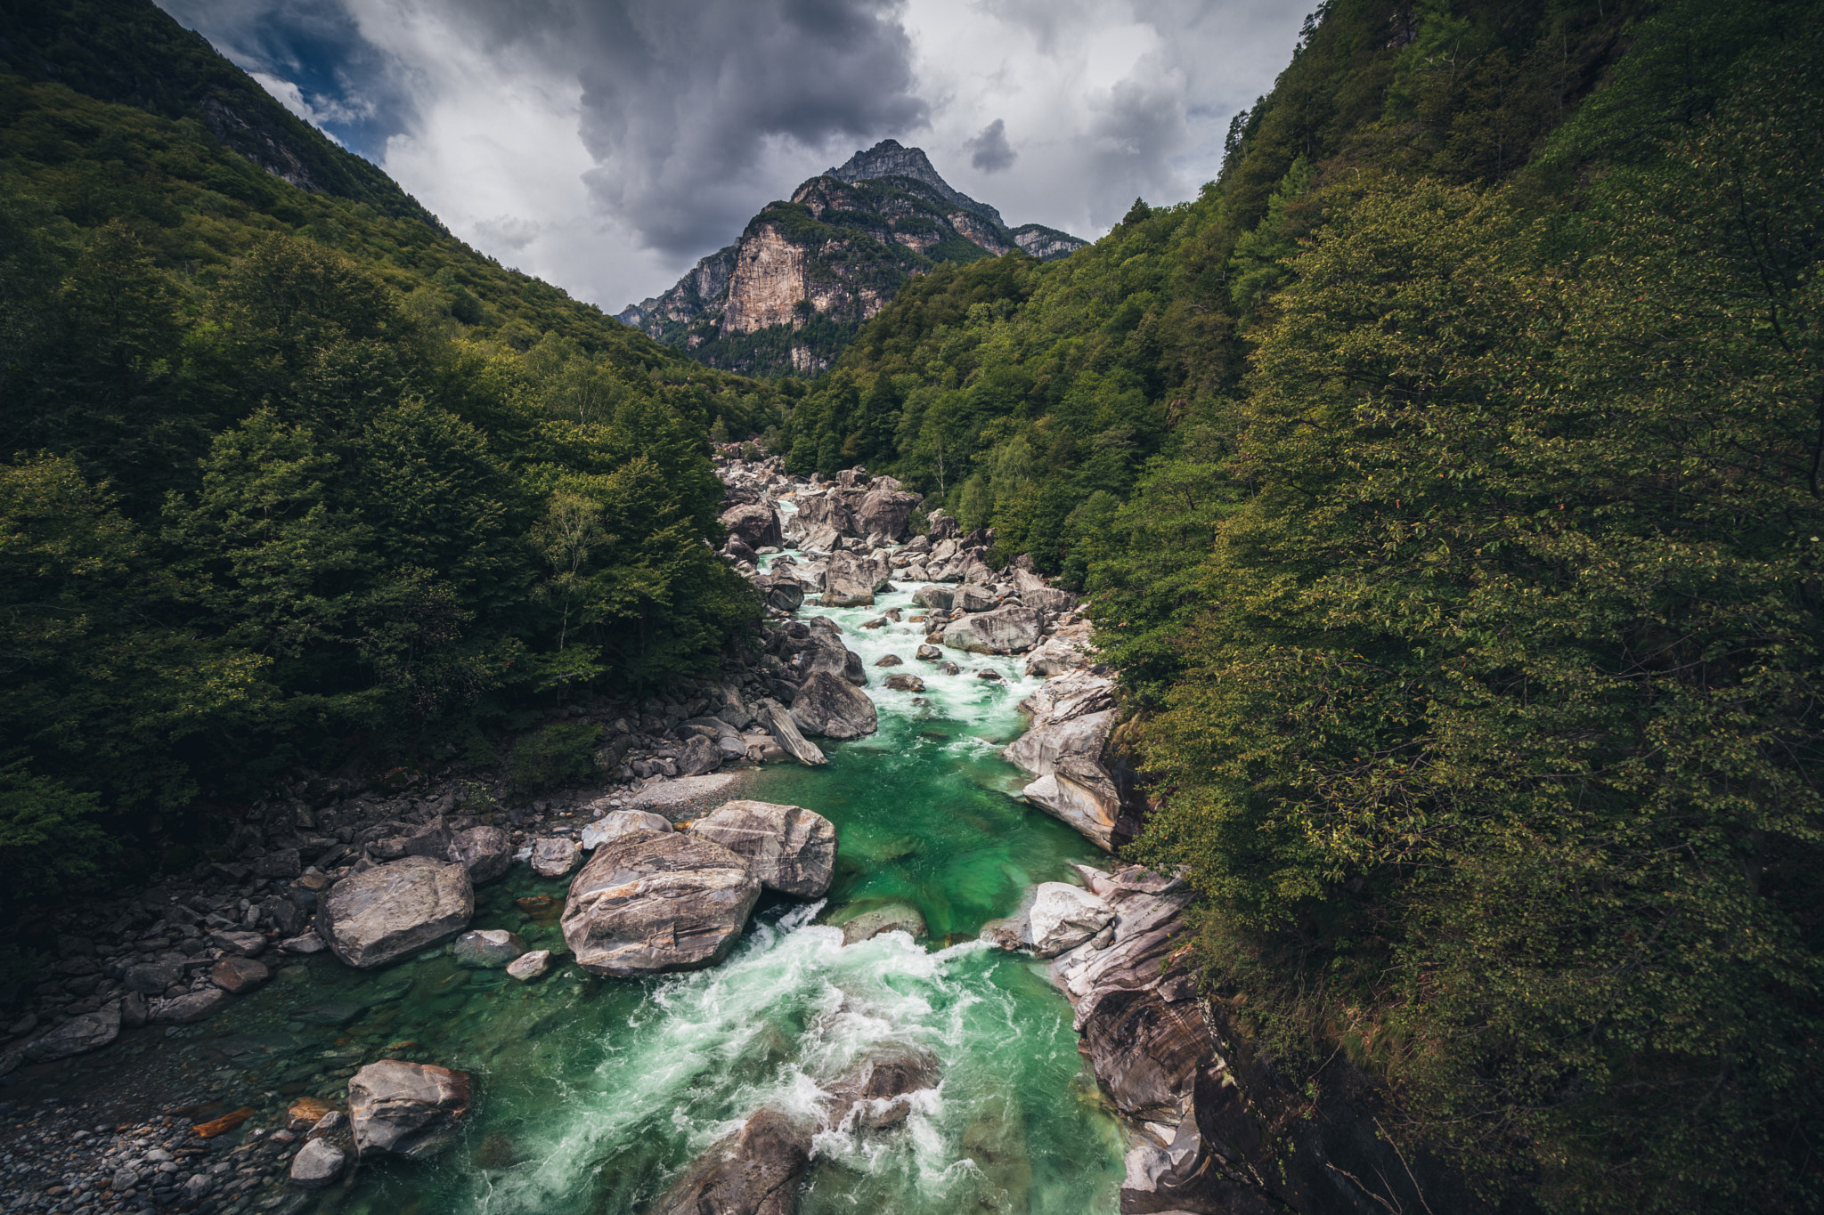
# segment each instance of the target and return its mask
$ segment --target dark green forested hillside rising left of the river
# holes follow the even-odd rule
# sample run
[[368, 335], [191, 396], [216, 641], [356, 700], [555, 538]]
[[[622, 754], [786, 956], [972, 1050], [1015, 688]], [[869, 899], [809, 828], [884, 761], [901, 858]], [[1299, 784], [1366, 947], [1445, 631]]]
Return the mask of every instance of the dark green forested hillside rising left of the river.
[[7, 62], [62, 67], [0, 75], [0, 900], [299, 765], [485, 758], [567, 689], [713, 669], [757, 605], [704, 545], [708, 432], [773, 386], [295, 120], [281, 180], [184, 111], [252, 80], [150, 4], [82, 11], [9, 11]]

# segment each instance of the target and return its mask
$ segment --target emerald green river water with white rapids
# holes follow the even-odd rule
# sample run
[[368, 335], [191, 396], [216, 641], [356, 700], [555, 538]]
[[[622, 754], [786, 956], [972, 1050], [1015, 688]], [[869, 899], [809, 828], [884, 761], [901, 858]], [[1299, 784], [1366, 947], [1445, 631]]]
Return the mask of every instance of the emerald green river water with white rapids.
[[[447, 956], [379, 973], [317, 958], [239, 1002], [237, 1024], [210, 1027], [275, 1031], [277, 1053], [259, 1071], [264, 1084], [292, 1077], [294, 1089], [317, 1066], [387, 1055], [476, 1075], [463, 1142], [430, 1164], [365, 1166], [319, 1211], [640, 1211], [753, 1111], [819, 1113], [828, 1100], [821, 1084], [881, 1046], [932, 1053], [941, 1084], [897, 1128], [821, 1135], [803, 1211], [1116, 1210], [1122, 1133], [1076, 1053], [1069, 1006], [1043, 964], [974, 942], [985, 920], [1018, 909], [1027, 887], [1067, 878], [1065, 862], [1096, 856], [1009, 796], [1021, 774], [998, 747], [1021, 729], [1014, 707], [1038, 681], [1020, 676], [1021, 659], [956, 652], [947, 658], [963, 674], [945, 676], [912, 658], [917, 625], [859, 628], [894, 605], [917, 614], [905, 592], [874, 608], [826, 612], [868, 667], [879, 734], [826, 745], [824, 769], [772, 767], [746, 789], [835, 822], [830, 898], [762, 907], [722, 965], [644, 982], [571, 969], [522, 987]], [[888, 652], [905, 665], [874, 667]], [[974, 676], [990, 665], [1005, 681]], [[894, 670], [921, 676], [927, 692], [881, 687]], [[560, 947], [565, 885], [514, 867], [478, 891], [474, 927]], [[525, 904], [540, 894], [551, 904]], [[890, 933], [843, 947], [841, 931], [817, 922], [892, 902], [919, 909], [927, 942]], [[328, 998], [370, 1011], [339, 1029], [285, 1020]], [[303, 1082], [305, 1091], [326, 1087], [316, 1075]]]

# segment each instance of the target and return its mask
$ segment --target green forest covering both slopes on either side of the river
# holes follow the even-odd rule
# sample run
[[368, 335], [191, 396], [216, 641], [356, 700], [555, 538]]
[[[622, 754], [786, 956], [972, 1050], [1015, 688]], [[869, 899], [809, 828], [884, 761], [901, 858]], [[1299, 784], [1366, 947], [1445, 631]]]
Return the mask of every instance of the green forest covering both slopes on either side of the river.
[[1346, 1057], [1512, 1210], [1824, 1206], [1817, 0], [1326, 0], [1195, 200], [936, 264], [812, 384], [0, 66], [5, 898], [713, 670], [753, 437], [1087, 597], [1129, 856], [1302, 1117]]

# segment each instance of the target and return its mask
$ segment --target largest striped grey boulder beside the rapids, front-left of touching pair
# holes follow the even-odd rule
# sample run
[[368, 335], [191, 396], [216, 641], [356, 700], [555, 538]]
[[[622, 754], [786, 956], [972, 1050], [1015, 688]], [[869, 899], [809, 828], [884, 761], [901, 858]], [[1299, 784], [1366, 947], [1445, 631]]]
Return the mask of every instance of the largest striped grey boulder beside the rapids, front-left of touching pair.
[[689, 971], [728, 956], [761, 898], [748, 863], [693, 834], [635, 831], [571, 882], [564, 940], [593, 975]]

